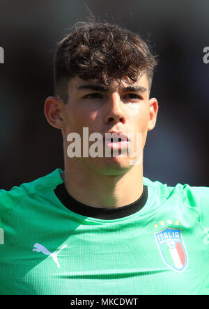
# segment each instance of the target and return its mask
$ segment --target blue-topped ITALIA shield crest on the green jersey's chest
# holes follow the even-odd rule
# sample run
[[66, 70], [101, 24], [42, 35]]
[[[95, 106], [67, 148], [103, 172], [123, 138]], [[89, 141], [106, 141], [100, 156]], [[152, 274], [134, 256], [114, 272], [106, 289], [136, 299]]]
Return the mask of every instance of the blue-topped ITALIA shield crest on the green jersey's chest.
[[155, 233], [155, 239], [164, 263], [174, 271], [184, 271], [188, 257], [180, 228], [165, 228]]

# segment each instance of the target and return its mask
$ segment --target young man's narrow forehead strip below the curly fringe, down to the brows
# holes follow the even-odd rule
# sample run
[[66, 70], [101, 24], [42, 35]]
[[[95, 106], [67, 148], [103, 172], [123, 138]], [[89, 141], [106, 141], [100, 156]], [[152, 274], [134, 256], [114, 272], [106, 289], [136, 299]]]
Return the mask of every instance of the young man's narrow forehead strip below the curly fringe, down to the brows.
[[70, 79], [69, 84], [68, 84], [68, 91], [70, 93], [72, 92], [77, 92], [81, 90], [88, 89], [88, 86], [95, 86], [95, 90], [97, 89], [98, 86], [98, 91], [103, 90], [103, 91], [116, 91], [116, 90], [123, 90], [123, 89], [130, 89], [132, 90], [141, 90], [141, 92], [148, 92], [148, 77], [146, 74], [142, 75], [137, 79], [136, 82], [130, 82], [127, 77], [125, 77], [122, 81], [117, 81], [113, 80], [109, 86], [105, 86], [104, 84], [100, 84], [98, 80], [96, 79], [81, 79], [79, 77], [73, 77]]

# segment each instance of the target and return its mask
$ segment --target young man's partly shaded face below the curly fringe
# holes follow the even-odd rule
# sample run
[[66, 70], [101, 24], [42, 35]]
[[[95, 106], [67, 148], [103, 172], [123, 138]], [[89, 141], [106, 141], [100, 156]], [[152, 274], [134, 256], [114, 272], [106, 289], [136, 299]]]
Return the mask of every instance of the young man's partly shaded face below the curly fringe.
[[[149, 99], [148, 79], [146, 74], [134, 84], [125, 80], [119, 84], [113, 81], [110, 86], [98, 84], [93, 79], [84, 80], [79, 77], [70, 79], [68, 85], [68, 103], [63, 104], [63, 139], [65, 152], [69, 145], [68, 134], [76, 132], [81, 136], [83, 145], [83, 128], [88, 127], [88, 136], [98, 132], [104, 136], [107, 132], [123, 132], [126, 136], [134, 134], [132, 146], [137, 147], [137, 133], [141, 137], [141, 152], [144, 149], [147, 132], [155, 126], [157, 116], [157, 100]], [[89, 142], [89, 147], [93, 142]], [[82, 149], [83, 151], [83, 149]], [[83, 152], [82, 152], [83, 153]], [[69, 160], [65, 155], [65, 159]], [[124, 173], [132, 167], [130, 157], [123, 157], [118, 150], [116, 157], [82, 157], [70, 158], [82, 166], [91, 168], [105, 175]]]

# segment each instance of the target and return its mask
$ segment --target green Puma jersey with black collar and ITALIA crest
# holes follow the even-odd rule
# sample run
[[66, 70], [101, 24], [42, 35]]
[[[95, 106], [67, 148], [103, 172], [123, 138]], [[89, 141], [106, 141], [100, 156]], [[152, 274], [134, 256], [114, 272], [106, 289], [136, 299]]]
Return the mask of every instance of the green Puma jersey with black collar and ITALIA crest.
[[1, 294], [209, 294], [209, 188], [144, 177], [134, 203], [99, 209], [61, 173], [0, 191]]

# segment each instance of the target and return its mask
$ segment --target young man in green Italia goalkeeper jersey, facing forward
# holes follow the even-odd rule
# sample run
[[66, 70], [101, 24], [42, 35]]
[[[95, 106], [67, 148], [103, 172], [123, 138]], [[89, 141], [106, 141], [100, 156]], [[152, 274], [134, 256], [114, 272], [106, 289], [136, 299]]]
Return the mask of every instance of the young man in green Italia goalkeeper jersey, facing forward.
[[1, 190], [1, 294], [209, 294], [209, 189], [143, 177], [155, 65], [111, 24], [59, 42], [45, 116], [65, 168]]

